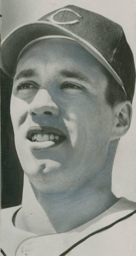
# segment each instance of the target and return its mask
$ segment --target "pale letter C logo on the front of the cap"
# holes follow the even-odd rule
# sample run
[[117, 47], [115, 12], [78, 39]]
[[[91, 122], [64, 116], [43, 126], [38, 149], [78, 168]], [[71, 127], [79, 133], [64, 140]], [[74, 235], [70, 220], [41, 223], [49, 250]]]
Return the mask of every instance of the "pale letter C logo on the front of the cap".
[[61, 22], [61, 21], [56, 21], [54, 20], [54, 16], [62, 11], [68, 11], [68, 12], [73, 12], [75, 13], [75, 15], [77, 15], [79, 18], [82, 18], [82, 16], [80, 16], [77, 12], [72, 11], [71, 9], [68, 8], [62, 8], [61, 10], [58, 10], [57, 12], [53, 13], [52, 15], [50, 15], [47, 20], [54, 23], [54, 24], [58, 24], [58, 25], [65, 25], [65, 24], [75, 24], [80, 22], [80, 20], [71, 20], [71, 21], [66, 21], [66, 22]]

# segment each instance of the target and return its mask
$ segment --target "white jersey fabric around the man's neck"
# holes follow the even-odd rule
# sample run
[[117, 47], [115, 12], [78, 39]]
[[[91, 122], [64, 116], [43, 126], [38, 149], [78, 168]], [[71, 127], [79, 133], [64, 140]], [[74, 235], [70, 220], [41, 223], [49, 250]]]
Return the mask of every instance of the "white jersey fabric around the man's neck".
[[[63, 252], [85, 236], [133, 213], [136, 210], [136, 203], [121, 198], [107, 211], [76, 229], [42, 236], [35, 236], [13, 226], [12, 216], [19, 208], [20, 206], [16, 206], [2, 210], [1, 248], [6, 256], [14, 256], [16, 249], [16, 256], [63, 255]], [[135, 256], [136, 214], [89, 237], [64, 255]]]

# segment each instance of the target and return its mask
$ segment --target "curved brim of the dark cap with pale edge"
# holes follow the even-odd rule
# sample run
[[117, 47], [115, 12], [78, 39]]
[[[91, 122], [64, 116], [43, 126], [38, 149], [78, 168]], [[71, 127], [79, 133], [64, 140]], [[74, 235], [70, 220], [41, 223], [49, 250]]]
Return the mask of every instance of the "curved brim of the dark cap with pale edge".
[[19, 53], [30, 43], [42, 36], [69, 36], [81, 44], [88, 52], [90, 52], [115, 78], [115, 80], [123, 87], [123, 82], [104, 58], [104, 56], [91, 44], [70, 32], [66, 28], [48, 21], [37, 21], [28, 23], [15, 28], [5, 37], [1, 44], [1, 68], [3, 71], [13, 77]]

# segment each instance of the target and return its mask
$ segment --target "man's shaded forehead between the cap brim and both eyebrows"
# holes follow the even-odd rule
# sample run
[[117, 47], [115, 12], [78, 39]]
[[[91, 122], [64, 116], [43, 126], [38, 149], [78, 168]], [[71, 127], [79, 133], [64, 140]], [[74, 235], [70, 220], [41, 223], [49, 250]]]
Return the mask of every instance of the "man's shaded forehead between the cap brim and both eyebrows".
[[64, 38], [48, 38], [28, 46], [20, 55], [15, 77], [28, 68], [37, 70], [39, 76], [45, 70], [55, 76], [65, 69], [96, 83], [103, 78], [107, 81], [103, 65], [76, 41]]

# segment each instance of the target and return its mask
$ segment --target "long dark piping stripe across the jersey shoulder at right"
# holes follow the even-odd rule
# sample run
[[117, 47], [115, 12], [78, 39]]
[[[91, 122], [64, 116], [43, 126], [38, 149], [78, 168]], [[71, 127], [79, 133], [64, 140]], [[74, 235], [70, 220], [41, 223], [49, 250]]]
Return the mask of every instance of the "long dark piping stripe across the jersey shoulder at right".
[[114, 221], [113, 223], [111, 223], [110, 225], [104, 227], [104, 228], [100, 228], [94, 232], [92, 232], [91, 234], [89, 234], [88, 236], [85, 236], [84, 238], [82, 238], [81, 240], [79, 240], [77, 243], [73, 244], [71, 247], [69, 247], [65, 252], [61, 253], [59, 256], [65, 256], [68, 252], [70, 252], [71, 250], [73, 250], [76, 246], [78, 246], [79, 244], [81, 244], [82, 242], [84, 242], [85, 240], [87, 240], [90, 236], [94, 236], [108, 228], [111, 228], [113, 227], [114, 225], [116, 225], [118, 222], [122, 221], [122, 220], [125, 220], [129, 217], [131, 217], [134, 213], [136, 213], [136, 210], [129, 213], [128, 215], [126, 215], [125, 217], [119, 219], [119, 220], [116, 220]]

